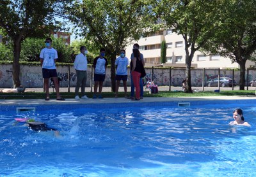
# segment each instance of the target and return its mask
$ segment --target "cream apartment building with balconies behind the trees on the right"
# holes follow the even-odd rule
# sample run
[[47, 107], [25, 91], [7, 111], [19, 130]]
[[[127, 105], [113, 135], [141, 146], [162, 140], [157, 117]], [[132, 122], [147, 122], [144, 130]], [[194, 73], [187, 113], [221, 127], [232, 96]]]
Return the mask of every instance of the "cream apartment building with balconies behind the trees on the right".
[[[161, 43], [166, 41], [166, 63], [161, 64]], [[165, 66], [165, 67], [185, 67], [186, 53], [184, 49], [184, 39], [181, 35], [172, 32], [158, 31], [151, 34], [147, 38], [141, 38], [134, 42], [140, 45], [140, 52], [144, 55], [145, 66]], [[127, 56], [132, 53], [132, 45], [126, 48]], [[246, 67], [255, 66], [255, 63], [247, 60]], [[239, 65], [229, 58], [221, 57], [220, 55], [204, 55], [204, 53], [195, 52], [193, 57], [192, 68], [239, 68]]]

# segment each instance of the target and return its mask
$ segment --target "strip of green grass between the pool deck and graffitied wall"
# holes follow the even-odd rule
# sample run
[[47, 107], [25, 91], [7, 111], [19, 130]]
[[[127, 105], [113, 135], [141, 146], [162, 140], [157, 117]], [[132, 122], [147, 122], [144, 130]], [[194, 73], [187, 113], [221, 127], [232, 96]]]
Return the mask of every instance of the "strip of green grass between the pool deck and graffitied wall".
[[[86, 96], [92, 98], [93, 92], [86, 92]], [[103, 97], [115, 97], [113, 92], [102, 92]], [[145, 92], [144, 97], [203, 97], [203, 96], [255, 96], [255, 90], [228, 90], [221, 92], [194, 92], [193, 94], [186, 94], [184, 92], [177, 91], [161, 91], [158, 94], [149, 94]], [[56, 98], [56, 93], [51, 93], [52, 99]], [[74, 92], [61, 92], [63, 98], [74, 98]], [[119, 92], [118, 97], [124, 97], [124, 92]], [[0, 93], [0, 99], [44, 99], [44, 92], [25, 92], [20, 93]]]

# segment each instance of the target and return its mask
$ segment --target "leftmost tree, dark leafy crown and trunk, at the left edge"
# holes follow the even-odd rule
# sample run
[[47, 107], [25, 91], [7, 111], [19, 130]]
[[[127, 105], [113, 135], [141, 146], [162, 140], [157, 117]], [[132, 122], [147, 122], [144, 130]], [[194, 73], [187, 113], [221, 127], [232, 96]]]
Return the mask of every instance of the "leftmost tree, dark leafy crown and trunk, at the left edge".
[[20, 86], [21, 42], [28, 37], [43, 37], [54, 29], [54, 8], [60, 0], [2, 0], [0, 27], [13, 41], [13, 87]]

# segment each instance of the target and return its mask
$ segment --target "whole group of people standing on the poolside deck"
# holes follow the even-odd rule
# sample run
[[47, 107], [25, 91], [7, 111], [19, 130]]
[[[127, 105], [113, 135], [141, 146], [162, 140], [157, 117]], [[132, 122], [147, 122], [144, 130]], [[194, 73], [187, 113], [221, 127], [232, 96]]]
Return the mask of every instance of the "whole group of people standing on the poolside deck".
[[[129, 59], [125, 56], [125, 50], [120, 50], [120, 56], [116, 58], [115, 66], [116, 66], [116, 93], [115, 98], [118, 97], [118, 88], [120, 86], [120, 81], [123, 81], [125, 98], [130, 98], [132, 100], [140, 100], [143, 99], [143, 81], [142, 78], [145, 76], [144, 69], [144, 59], [143, 54], [140, 53], [140, 45], [138, 43], [133, 45], [131, 62], [129, 64]], [[81, 46], [80, 52], [76, 55], [76, 59], [74, 61], [74, 68], [76, 69], [77, 83], [75, 89], [75, 99], [88, 99], [85, 94], [85, 86], [87, 80], [87, 65], [88, 60], [86, 54], [88, 50], [86, 46]], [[104, 48], [100, 49], [99, 56], [93, 60], [93, 68], [94, 68], [94, 92], [93, 99], [102, 99], [102, 87], [103, 82], [106, 76], [106, 67], [108, 66], [108, 60], [105, 57], [106, 50]], [[56, 96], [58, 101], [65, 101], [60, 96], [60, 86], [56, 71], [56, 60], [58, 59], [57, 51], [52, 48], [52, 39], [45, 39], [45, 48], [43, 48], [40, 52], [40, 63], [42, 66], [42, 74], [44, 78], [44, 89], [45, 89], [45, 101], [50, 100], [49, 96], [49, 79], [52, 78], [54, 81], [54, 87], [56, 90]], [[131, 68], [131, 96], [127, 96], [127, 77], [128, 71], [127, 66], [130, 65]], [[81, 97], [79, 97], [79, 88], [81, 87]], [[99, 87], [99, 92], [97, 92]], [[136, 90], [136, 94], [134, 97], [134, 88]]]

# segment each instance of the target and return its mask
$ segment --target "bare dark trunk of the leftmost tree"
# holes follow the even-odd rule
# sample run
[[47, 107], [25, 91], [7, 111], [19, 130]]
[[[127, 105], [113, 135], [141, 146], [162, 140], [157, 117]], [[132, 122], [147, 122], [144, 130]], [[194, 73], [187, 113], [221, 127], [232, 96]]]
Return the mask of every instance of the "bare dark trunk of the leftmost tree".
[[12, 76], [13, 76], [13, 88], [20, 87], [20, 50], [21, 50], [21, 40], [20, 38], [15, 38], [13, 46], [13, 64], [12, 64]]

